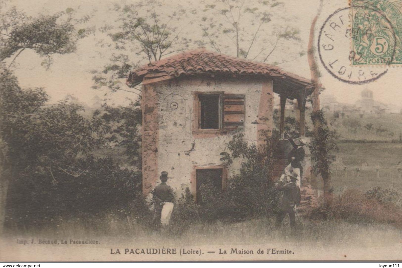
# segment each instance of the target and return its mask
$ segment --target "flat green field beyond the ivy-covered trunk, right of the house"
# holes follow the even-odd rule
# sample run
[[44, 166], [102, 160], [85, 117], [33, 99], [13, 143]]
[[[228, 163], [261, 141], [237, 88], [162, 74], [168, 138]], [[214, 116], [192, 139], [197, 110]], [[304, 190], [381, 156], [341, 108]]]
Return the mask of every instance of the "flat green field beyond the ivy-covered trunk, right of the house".
[[[369, 190], [375, 186], [402, 191], [402, 174], [398, 172], [398, 167], [402, 167], [398, 165], [402, 161], [402, 143], [339, 142], [338, 147], [332, 173], [335, 192], [345, 188]], [[321, 181], [318, 187], [322, 187]]]

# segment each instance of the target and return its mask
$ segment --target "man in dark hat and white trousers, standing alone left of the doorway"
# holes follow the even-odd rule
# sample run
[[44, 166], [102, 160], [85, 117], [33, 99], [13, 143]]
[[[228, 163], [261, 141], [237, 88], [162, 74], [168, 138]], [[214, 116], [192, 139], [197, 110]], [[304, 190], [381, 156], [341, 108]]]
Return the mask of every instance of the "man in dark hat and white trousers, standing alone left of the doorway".
[[[173, 189], [166, 184], [168, 180], [168, 173], [162, 171], [159, 177], [161, 183], [154, 188], [153, 200], [155, 204], [154, 208], [154, 225], [160, 227], [161, 224], [168, 225], [170, 216], [173, 209], [174, 193]], [[163, 219], [162, 219], [162, 209], [164, 208]], [[161, 221], [163, 220], [163, 221]]]

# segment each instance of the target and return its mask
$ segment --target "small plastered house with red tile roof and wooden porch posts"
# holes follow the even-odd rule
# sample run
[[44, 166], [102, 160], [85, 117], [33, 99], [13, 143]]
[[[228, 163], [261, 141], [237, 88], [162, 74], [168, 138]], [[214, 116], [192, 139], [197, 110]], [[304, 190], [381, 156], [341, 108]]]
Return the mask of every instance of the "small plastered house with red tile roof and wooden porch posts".
[[[160, 173], [168, 171], [176, 194], [189, 187], [196, 198], [207, 179], [224, 189], [238, 171], [240, 163], [224, 167], [219, 160], [234, 130], [255, 144], [265, 143], [264, 133], [271, 135], [274, 93], [280, 97], [281, 135], [285, 103], [295, 99], [304, 136], [306, 98], [313, 91], [310, 80], [276, 66], [205, 49], [138, 68], [127, 84], [142, 84], [144, 195], [159, 183]], [[285, 162], [277, 160], [280, 168]]]

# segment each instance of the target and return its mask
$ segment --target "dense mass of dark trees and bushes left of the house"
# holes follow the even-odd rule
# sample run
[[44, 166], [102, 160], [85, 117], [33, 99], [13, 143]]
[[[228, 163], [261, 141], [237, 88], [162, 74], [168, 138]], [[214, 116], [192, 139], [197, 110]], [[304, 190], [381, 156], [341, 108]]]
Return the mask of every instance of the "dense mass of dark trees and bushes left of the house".
[[[0, 89], [1, 211], [13, 218], [13, 224], [31, 226], [35, 221], [41, 227], [49, 219], [92, 219], [96, 213], [127, 206], [133, 200], [136, 208], [146, 211], [141, 172], [94, 154], [108, 145], [110, 137], [104, 133], [102, 120], [85, 118], [82, 106], [68, 101], [45, 105], [43, 89], [21, 89], [6, 68], [0, 74]], [[110, 118], [131, 111], [135, 108]], [[137, 122], [141, 116], [136, 116], [134, 112]], [[131, 123], [125, 120], [112, 130], [124, 136], [125, 127], [137, 126]], [[131, 133], [135, 132], [128, 133], [128, 138]], [[127, 146], [127, 150], [136, 148]]]

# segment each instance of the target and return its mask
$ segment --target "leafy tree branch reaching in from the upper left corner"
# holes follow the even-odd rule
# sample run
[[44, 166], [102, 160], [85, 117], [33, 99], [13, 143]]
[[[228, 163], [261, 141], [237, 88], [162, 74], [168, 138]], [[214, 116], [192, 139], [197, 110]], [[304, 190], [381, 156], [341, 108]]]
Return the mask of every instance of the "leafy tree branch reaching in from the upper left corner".
[[[40, 56], [47, 57], [42, 65], [49, 67], [51, 56], [76, 51], [76, 43], [86, 37], [90, 28], [76, 29], [90, 19], [84, 16], [74, 18], [74, 9], [52, 15], [28, 16], [12, 6], [0, 12], [0, 61], [14, 56], [10, 65], [25, 49], [32, 49]], [[9, 65], [9, 66], [10, 66]]]

